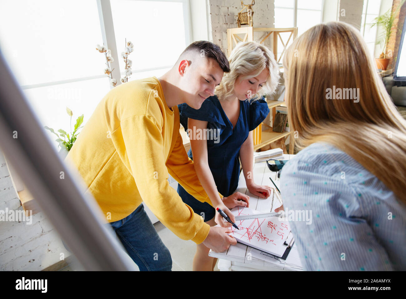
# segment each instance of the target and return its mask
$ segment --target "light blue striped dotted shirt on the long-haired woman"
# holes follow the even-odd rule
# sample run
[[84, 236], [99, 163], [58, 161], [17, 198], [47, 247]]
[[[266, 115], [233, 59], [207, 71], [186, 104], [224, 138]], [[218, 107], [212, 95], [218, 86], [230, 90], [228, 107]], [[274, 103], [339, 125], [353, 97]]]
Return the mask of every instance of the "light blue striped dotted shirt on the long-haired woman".
[[288, 218], [311, 216], [288, 219], [304, 270], [406, 270], [405, 205], [343, 151], [304, 148], [283, 166], [280, 190]]

